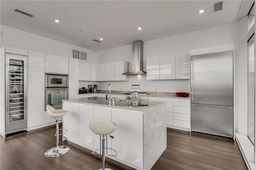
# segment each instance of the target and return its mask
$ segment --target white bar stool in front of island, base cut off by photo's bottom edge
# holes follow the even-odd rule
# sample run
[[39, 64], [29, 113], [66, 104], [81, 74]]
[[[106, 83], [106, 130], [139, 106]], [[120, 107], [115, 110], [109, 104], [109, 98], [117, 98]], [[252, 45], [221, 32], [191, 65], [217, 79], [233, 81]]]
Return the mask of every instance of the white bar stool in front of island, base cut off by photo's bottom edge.
[[[96, 149], [92, 152], [93, 154], [98, 154], [96, 152], [97, 150], [100, 150], [100, 154], [102, 152], [102, 169], [100, 169], [100, 170], [111, 170], [110, 168], [105, 169], [105, 149], [107, 149], [106, 154], [108, 156], [116, 156], [117, 155], [117, 153], [115, 155], [108, 154], [108, 149], [111, 149], [111, 150], [114, 150], [114, 149], [108, 148], [108, 136], [107, 136], [107, 135], [110, 136], [110, 134], [117, 129], [116, 123], [107, 121], [106, 119], [96, 118], [96, 119], [92, 119], [90, 121], [89, 128], [95, 134], [100, 135], [100, 141], [102, 140], [102, 148], [101, 148], [101, 145], [100, 145], [99, 149]], [[102, 136], [102, 139], [101, 139], [101, 136]], [[106, 148], [105, 148], [105, 136], [106, 136], [106, 139], [107, 139], [107, 147]], [[114, 136], [110, 136], [110, 137], [114, 138]], [[116, 151], [114, 150], [114, 152], [116, 152]]]

